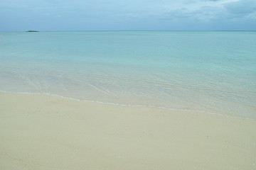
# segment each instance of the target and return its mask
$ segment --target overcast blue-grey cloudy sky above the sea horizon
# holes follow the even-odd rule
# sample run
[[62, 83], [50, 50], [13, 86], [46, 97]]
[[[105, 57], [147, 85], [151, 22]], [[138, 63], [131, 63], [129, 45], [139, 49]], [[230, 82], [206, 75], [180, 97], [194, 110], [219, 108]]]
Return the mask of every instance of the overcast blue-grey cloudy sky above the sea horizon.
[[0, 0], [9, 30], [256, 30], [256, 0]]

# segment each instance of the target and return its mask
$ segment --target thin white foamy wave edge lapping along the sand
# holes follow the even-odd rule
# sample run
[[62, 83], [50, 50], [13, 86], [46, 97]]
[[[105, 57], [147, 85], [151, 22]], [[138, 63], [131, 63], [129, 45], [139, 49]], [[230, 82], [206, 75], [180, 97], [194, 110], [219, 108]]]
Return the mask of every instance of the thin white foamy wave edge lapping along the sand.
[[207, 113], [210, 115], [220, 115], [224, 116], [226, 118], [239, 118], [239, 119], [245, 119], [245, 120], [256, 120], [253, 118], [242, 118], [239, 116], [232, 116], [232, 115], [224, 115], [220, 113], [213, 113], [213, 112], [208, 112], [208, 111], [197, 111], [197, 110], [188, 110], [188, 109], [182, 109], [182, 108], [167, 108], [163, 106], [154, 106], [154, 105], [130, 105], [130, 104], [122, 104], [122, 103], [110, 103], [110, 102], [103, 102], [103, 101], [87, 101], [87, 100], [80, 100], [78, 98], [71, 98], [67, 96], [60, 96], [58, 94], [48, 94], [48, 93], [29, 93], [29, 92], [10, 92], [10, 91], [2, 91], [6, 94], [36, 94], [36, 95], [47, 95], [47, 96], [57, 96], [60, 98], [65, 98], [65, 99], [70, 99], [73, 101], [81, 101], [81, 102], [90, 102], [90, 103], [101, 103], [101, 104], [106, 104], [106, 105], [113, 105], [113, 106], [124, 106], [124, 107], [144, 107], [144, 108], [161, 108], [161, 109], [166, 109], [166, 110], [171, 110], [171, 111], [186, 111], [186, 112], [197, 112], [197, 113]]

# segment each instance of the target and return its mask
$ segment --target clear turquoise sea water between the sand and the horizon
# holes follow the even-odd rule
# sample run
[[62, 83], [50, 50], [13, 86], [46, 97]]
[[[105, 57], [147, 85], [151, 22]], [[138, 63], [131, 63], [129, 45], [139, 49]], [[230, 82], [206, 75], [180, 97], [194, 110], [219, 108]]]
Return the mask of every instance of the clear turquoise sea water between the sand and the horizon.
[[0, 90], [256, 118], [256, 32], [1, 32]]

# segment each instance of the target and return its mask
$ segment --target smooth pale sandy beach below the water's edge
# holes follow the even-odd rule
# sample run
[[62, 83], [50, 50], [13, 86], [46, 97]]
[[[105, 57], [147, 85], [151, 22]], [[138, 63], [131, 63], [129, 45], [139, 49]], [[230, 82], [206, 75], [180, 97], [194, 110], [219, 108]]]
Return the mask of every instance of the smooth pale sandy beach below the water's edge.
[[256, 121], [0, 93], [0, 169], [256, 169]]

